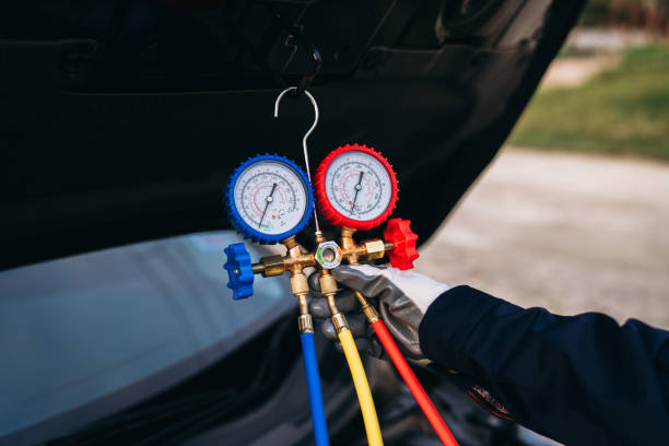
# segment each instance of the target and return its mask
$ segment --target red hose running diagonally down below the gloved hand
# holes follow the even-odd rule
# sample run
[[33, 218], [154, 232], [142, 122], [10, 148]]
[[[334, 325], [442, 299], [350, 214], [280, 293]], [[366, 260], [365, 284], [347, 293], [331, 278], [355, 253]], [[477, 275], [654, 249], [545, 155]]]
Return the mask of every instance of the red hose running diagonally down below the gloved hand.
[[397, 367], [397, 371], [404, 379], [404, 383], [407, 383], [407, 386], [409, 386], [411, 395], [413, 395], [413, 398], [415, 398], [416, 402], [425, 413], [425, 416], [427, 416], [427, 421], [430, 421], [430, 424], [432, 424], [432, 427], [434, 427], [434, 431], [442, 443], [444, 443], [446, 446], [458, 446], [458, 442], [450, 433], [450, 430], [448, 430], [446, 423], [444, 423], [444, 420], [442, 420], [439, 412], [437, 412], [436, 408], [430, 400], [430, 397], [427, 394], [425, 394], [425, 389], [423, 389], [423, 386], [421, 386], [421, 383], [419, 383], [418, 378], [413, 374], [413, 371], [411, 367], [409, 367], [409, 364], [407, 364], [407, 360], [404, 360], [404, 356], [402, 356], [402, 353], [399, 351], [395, 340], [388, 332], [384, 321], [378, 319], [376, 322], [372, 324], [372, 327], [374, 328], [374, 331], [376, 331], [376, 336], [378, 336], [378, 339], [380, 339], [382, 343], [386, 348], [386, 351], [388, 352], [388, 355], [390, 355], [395, 367]]

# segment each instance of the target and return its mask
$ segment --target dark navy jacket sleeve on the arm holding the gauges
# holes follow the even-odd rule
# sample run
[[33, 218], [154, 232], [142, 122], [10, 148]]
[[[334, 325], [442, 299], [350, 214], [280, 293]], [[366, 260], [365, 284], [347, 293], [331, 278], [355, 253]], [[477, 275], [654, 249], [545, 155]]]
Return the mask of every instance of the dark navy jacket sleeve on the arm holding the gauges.
[[669, 331], [458, 286], [427, 308], [419, 333], [426, 357], [488, 386], [536, 432], [566, 445], [669, 445]]

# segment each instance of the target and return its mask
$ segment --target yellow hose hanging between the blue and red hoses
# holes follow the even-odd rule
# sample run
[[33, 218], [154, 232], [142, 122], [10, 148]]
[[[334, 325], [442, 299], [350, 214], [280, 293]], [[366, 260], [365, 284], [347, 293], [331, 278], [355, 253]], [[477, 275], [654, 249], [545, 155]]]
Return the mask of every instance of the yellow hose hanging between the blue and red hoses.
[[372, 399], [372, 391], [369, 391], [367, 376], [365, 375], [365, 369], [360, 360], [360, 354], [357, 353], [357, 348], [355, 347], [355, 341], [353, 341], [351, 330], [345, 329], [341, 331], [339, 333], [339, 341], [347, 355], [347, 362], [349, 363], [349, 368], [353, 376], [353, 384], [355, 385], [360, 409], [365, 422], [365, 431], [367, 432], [367, 443], [369, 446], [383, 446], [384, 441], [380, 435], [378, 419], [376, 418], [376, 408]]

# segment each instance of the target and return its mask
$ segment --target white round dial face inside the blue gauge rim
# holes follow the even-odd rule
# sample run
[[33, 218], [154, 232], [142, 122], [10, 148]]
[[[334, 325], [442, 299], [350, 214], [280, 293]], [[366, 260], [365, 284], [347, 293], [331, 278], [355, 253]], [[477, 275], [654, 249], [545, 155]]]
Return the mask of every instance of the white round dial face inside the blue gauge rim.
[[307, 212], [308, 189], [290, 165], [274, 160], [250, 164], [234, 185], [235, 208], [244, 222], [262, 234], [283, 234]]

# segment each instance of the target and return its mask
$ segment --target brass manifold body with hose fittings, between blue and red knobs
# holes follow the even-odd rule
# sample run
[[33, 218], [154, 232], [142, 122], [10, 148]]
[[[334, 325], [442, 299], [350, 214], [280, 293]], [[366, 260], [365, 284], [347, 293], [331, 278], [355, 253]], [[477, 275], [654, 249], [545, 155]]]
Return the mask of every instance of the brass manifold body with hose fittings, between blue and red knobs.
[[[342, 261], [349, 265], [357, 265], [361, 261], [373, 261], [384, 257], [386, 251], [392, 249], [392, 244], [384, 242], [380, 238], [363, 240], [360, 244], [355, 243], [353, 235], [355, 230], [349, 227], [342, 227], [340, 248], [341, 253], [320, 253], [321, 257], [333, 257], [340, 256]], [[317, 246], [322, 246], [326, 243], [325, 237], [320, 231], [316, 232], [315, 242]], [[298, 326], [300, 332], [314, 332], [314, 324], [312, 315], [309, 314], [308, 300], [309, 285], [307, 278], [304, 274], [304, 269], [308, 267], [316, 267], [318, 263], [317, 255], [307, 251], [302, 245], [295, 240], [295, 236], [291, 236], [281, 242], [287, 249], [284, 256], [274, 255], [262, 257], [258, 263], [251, 266], [254, 273], [261, 274], [263, 278], [273, 275], [281, 275], [285, 271], [291, 271], [291, 292], [295, 295], [300, 302], [300, 317]], [[326, 249], [330, 249], [327, 247]], [[332, 265], [331, 262], [329, 265]], [[336, 262], [339, 265], [339, 261]], [[337, 281], [330, 273], [329, 269], [321, 268], [320, 270], [320, 292], [326, 296], [328, 306], [332, 313], [332, 322], [337, 332], [348, 330], [347, 320], [337, 307], [336, 294], [338, 291]], [[375, 322], [378, 320], [378, 314], [372, 305], [369, 305], [361, 293], [355, 293], [357, 300], [363, 306], [363, 312], [369, 320]]]

